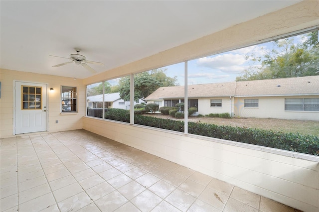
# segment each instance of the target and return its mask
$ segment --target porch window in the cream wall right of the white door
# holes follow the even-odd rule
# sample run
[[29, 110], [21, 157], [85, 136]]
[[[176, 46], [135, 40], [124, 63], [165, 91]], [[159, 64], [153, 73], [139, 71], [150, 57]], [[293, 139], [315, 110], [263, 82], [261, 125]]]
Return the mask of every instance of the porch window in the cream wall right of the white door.
[[77, 95], [75, 87], [62, 86], [61, 88], [61, 110], [62, 112], [77, 111]]

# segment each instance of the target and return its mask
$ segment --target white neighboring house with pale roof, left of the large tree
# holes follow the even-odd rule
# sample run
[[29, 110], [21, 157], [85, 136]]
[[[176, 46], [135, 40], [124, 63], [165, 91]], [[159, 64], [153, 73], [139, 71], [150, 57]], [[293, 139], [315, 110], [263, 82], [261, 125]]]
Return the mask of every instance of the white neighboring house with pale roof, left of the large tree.
[[[88, 108], [102, 108], [103, 94], [90, 96], [87, 98]], [[104, 108], [120, 108], [130, 109], [130, 101], [124, 101], [120, 97], [120, 93], [105, 94], [104, 95]]]

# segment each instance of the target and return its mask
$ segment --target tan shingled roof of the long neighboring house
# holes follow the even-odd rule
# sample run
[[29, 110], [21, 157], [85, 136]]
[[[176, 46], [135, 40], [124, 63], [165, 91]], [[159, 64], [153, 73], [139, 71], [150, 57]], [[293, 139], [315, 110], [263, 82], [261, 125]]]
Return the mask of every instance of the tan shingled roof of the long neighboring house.
[[[188, 98], [319, 95], [319, 76], [188, 86]], [[184, 86], [160, 87], [146, 100], [184, 97]]]

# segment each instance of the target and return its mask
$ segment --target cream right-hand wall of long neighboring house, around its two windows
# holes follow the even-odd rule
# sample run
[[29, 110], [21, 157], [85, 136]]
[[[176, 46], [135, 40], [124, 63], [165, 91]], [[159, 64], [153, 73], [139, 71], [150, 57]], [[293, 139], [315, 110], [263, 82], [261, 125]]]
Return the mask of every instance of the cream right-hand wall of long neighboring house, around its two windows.
[[[234, 113], [240, 117], [282, 118], [319, 121], [319, 111], [285, 111], [285, 99], [319, 96], [241, 97], [234, 101]], [[258, 99], [258, 107], [244, 107], [245, 99]]]

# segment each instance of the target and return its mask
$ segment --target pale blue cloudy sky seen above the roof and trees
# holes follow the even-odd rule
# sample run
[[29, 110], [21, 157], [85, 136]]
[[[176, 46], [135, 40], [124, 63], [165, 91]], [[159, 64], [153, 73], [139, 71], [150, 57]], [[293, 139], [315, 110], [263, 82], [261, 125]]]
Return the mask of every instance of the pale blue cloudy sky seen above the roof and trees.
[[[294, 43], [306, 41], [303, 35], [294, 37]], [[234, 82], [245, 69], [261, 67], [261, 62], [247, 59], [247, 56], [263, 57], [275, 47], [275, 42], [267, 42], [233, 51], [188, 61], [188, 85]], [[276, 48], [281, 51], [281, 49]], [[161, 69], [166, 69], [166, 75], [177, 77], [180, 86], [184, 85], [184, 63], [178, 63]], [[111, 85], [118, 84], [119, 79], [108, 81]]]

